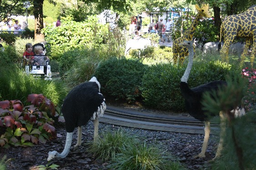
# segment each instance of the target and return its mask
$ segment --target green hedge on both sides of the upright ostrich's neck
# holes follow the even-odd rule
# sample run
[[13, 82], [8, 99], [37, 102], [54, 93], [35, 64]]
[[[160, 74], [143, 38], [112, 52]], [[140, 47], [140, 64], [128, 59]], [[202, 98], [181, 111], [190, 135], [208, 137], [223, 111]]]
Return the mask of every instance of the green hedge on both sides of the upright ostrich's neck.
[[[184, 111], [185, 103], [180, 92], [180, 81], [186, 69], [184, 66], [163, 64], [151, 66], [142, 79], [141, 92], [145, 105], [151, 108]], [[194, 61], [188, 80], [191, 88], [214, 80], [225, 80], [225, 76], [237, 71], [220, 61]], [[161, 102], [159, 102], [161, 101]]]

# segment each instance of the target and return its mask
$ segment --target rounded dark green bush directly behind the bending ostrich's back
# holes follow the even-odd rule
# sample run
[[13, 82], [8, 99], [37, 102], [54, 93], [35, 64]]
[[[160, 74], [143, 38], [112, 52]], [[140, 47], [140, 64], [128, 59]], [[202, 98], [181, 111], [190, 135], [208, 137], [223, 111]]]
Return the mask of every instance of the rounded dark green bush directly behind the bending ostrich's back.
[[140, 61], [111, 58], [100, 63], [95, 76], [103, 94], [133, 102], [141, 96], [139, 87], [145, 68]]

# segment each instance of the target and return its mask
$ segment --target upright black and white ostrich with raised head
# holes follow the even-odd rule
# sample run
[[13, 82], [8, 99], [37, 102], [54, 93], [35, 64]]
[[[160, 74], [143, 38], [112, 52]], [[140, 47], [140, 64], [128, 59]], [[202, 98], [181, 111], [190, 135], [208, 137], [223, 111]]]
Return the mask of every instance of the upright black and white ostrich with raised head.
[[[226, 86], [226, 81], [221, 81], [221, 80], [212, 81], [212, 82], [209, 82], [209, 83], [206, 83], [206, 84], [203, 84], [203, 85], [200, 85], [200, 86], [190, 89], [187, 84], [187, 80], [188, 80], [188, 77], [189, 77], [189, 74], [190, 74], [190, 71], [192, 68], [192, 64], [193, 64], [193, 57], [194, 57], [193, 42], [184, 41], [184, 42], [180, 43], [179, 45], [186, 46], [189, 51], [188, 65], [187, 65], [184, 75], [181, 78], [181, 83], [180, 83], [181, 94], [185, 98], [186, 109], [192, 117], [194, 117], [202, 122], [205, 122], [205, 137], [204, 137], [202, 150], [201, 150], [200, 154], [198, 154], [194, 157], [195, 158], [196, 157], [206, 157], [205, 152], [207, 149], [208, 139], [209, 139], [209, 134], [210, 134], [210, 117], [215, 116], [215, 115], [206, 114], [206, 112], [202, 109], [202, 104], [201, 104], [202, 94], [207, 91], [216, 91], [217, 92], [221, 86]], [[233, 112], [236, 115], [236, 117], [245, 114], [245, 111], [243, 108], [241, 108], [241, 109], [238, 108], [231, 112]], [[219, 142], [219, 145], [218, 145], [218, 148], [216, 151], [215, 158], [220, 156], [222, 143], [223, 143], [222, 135], [223, 135], [223, 133], [225, 133], [225, 128], [223, 128], [225, 126], [225, 123], [223, 121], [224, 115], [222, 115], [222, 112], [216, 113], [216, 115], [217, 114], [220, 114], [220, 117], [221, 117], [221, 137], [220, 137], [220, 142]]]

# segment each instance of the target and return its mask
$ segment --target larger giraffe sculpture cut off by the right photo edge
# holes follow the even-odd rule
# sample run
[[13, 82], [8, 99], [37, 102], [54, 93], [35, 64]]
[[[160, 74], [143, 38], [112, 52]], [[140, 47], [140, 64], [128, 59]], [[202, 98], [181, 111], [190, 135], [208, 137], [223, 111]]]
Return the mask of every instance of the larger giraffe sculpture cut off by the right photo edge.
[[[224, 45], [221, 48], [223, 61], [228, 62], [228, 49], [236, 37], [246, 38], [246, 47], [241, 54], [241, 63], [250, 45], [252, 45], [251, 63], [256, 54], [256, 5], [251, 6], [246, 12], [230, 15], [221, 24], [221, 36], [224, 37]], [[221, 41], [221, 40], [220, 40]]]

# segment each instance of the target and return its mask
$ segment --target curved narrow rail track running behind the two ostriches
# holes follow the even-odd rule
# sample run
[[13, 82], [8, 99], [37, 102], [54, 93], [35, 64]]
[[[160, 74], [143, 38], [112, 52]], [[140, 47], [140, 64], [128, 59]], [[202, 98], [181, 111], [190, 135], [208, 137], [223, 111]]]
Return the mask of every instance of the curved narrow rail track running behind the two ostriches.
[[[149, 130], [204, 134], [204, 123], [192, 117], [132, 113], [127, 110], [106, 109], [100, 122]], [[212, 134], [219, 132], [218, 124], [211, 124]]]

